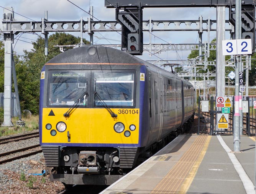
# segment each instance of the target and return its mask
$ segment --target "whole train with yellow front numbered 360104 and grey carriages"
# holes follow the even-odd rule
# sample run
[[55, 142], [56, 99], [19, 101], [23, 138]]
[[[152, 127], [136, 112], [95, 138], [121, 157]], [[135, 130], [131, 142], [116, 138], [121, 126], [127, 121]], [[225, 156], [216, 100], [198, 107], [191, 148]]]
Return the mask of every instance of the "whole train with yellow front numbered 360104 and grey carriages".
[[194, 120], [193, 85], [111, 47], [49, 60], [40, 78], [39, 138], [50, 179], [110, 185]]

